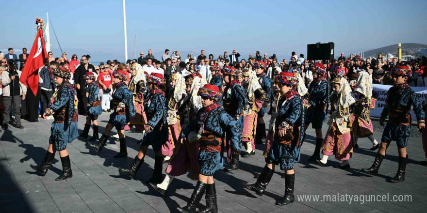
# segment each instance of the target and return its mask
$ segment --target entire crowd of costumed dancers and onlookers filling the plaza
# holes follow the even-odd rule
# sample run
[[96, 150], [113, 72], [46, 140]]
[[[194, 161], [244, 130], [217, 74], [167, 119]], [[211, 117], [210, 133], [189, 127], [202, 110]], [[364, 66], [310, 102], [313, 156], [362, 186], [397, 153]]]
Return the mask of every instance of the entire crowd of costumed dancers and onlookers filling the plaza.
[[[226, 172], [239, 169], [239, 158], [254, 155], [256, 144], [265, 144], [266, 164], [257, 182], [244, 187], [263, 195], [275, 166], [279, 165], [285, 171], [285, 193], [276, 204], [294, 202], [294, 165], [300, 160], [310, 123], [316, 140], [309, 160], [322, 167], [334, 155], [341, 161], [339, 168], [350, 168], [349, 160], [358, 147], [358, 138], [368, 137], [371, 150], [378, 149], [378, 153], [373, 165], [362, 170], [376, 175], [390, 142], [396, 141], [398, 171], [390, 182], [399, 183], [405, 180], [413, 109], [418, 128], [424, 131], [427, 154], [426, 106], [421, 105], [411, 89], [424, 86], [426, 57], [387, 61], [379, 54], [377, 59], [363, 60], [359, 55], [346, 59], [343, 53], [338, 60], [320, 61], [307, 60], [303, 54], [298, 57], [292, 52], [289, 62], [284, 59], [278, 63], [275, 54], [262, 57], [259, 51], [247, 60], [239, 59], [242, 56], [236, 50], [230, 55], [224, 52], [218, 58], [206, 56], [204, 50], [197, 57], [188, 54], [186, 59], [181, 58], [179, 51], [169, 53], [166, 49], [159, 61], [150, 49], [146, 56], [141, 52], [138, 59], [125, 63], [109, 60], [95, 66], [89, 62], [89, 55], [78, 61], [76, 55], [68, 60], [66, 53], [54, 58], [49, 52], [49, 63], [39, 69], [39, 92], [29, 94], [32, 91], [19, 82], [20, 71], [13, 60], [17, 57], [13, 56], [13, 49], [9, 50], [0, 66], [2, 127], [7, 129], [12, 108], [15, 127], [23, 128], [19, 105], [24, 105], [24, 100], [29, 121], [51, 116], [54, 121], [48, 151], [43, 163], [32, 168], [44, 176], [58, 151], [63, 174], [56, 180], [72, 177], [66, 144], [79, 136], [89, 137], [91, 124], [90, 140], [96, 142], [90, 147], [101, 152], [108, 139], [116, 137], [120, 151], [115, 158], [128, 156], [125, 133], [134, 128], [141, 132], [140, 151], [129, 167], [119, 168], [120, 173], [134, 177], [151, 145], [155, 162], [148, 183], [156, 191], [166, 194], [172, 180], [188, 171], [197, 180], [188, 204], [179, 208], [184, 213], [195, 212], [204, 194], [206, 208], [199, 212], [217, 212], [215, 171], [224, 166], [224, 161], [228, 163]], [[26, 56], [19, 58], [25, 60]], [[378, 98], [373, 83], [394, 85], [380, 117], [380, 125], [385, 125], [380, 143], [373, 137], [370, 118]], [[34, 106], [39, 102], [40, 109]], [[99, 137], [97, 119], [101, 113], [111, 114]], [[271, 115], [267, 128], [265, 113]], [[80, 135], [78, 114], [86, 116]], [[324, 137], [325, 119], [328, 131]], [[116, 136], [111, 134], [113, 128]], [[169, 163], [163, 178], [164, 160]]]

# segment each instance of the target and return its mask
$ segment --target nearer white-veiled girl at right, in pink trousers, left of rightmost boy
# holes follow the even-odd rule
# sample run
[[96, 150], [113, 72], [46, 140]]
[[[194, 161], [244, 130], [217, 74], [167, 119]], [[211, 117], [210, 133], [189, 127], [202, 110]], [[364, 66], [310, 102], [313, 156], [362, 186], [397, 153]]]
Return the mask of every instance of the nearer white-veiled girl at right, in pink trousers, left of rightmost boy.
[[316, 161], [324, 167], [328, 157], [335, 154], [335, 159], [342, 161], [340, 168], [347, 169], [350, 168], [348, 160], [353, 152], [349, 125], [351, 122], [350, 111], [356, 99], [347, 80], [339, 74], [332, 80], [332, 91], [329, 128], [322, 143], [323, 157]]

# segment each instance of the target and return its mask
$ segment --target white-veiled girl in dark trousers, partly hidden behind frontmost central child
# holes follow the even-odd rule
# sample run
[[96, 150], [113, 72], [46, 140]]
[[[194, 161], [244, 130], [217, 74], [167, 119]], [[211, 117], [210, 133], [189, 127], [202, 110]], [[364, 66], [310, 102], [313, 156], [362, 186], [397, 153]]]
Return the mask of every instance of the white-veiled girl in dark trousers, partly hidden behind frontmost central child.
[[[200, 87], [203, 87], [202, 83], [205, 80], [197, 73], [192, 73], [187, 77], [185, 81], [187, 96], [182, 100], [182, 104], [178, 109], [181, 129], [185, 129], [190, 121], [196, 119], [197, 112], [202, 107], [201, 97], [197, 94]], [[193, 136], [195, 136], [193, 134]], [[197, 135], [196, 135], [197, 136]], [[175, 144], [174, 155], [172, 156], [169, 165], [166, 168], [166, 176], [162, 183], [153, 184], [150, 183], [154, 190], [165, 195], [167, 188], [169, 187], [172, 180], [177, 177], [191, 171], [193, 178], [198, 179], [199, 165], [197, 156], [199, 147], [197, 145], [197, 137], [189, 137]]]

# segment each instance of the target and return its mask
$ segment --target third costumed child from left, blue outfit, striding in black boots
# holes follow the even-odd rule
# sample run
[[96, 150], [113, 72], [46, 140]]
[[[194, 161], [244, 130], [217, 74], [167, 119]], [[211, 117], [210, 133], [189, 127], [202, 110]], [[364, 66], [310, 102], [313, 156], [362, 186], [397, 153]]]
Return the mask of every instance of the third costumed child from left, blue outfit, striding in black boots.
[[91, 144], [90, 146], [96, 151], [100, 152], [107, 143], [108, 137], [110, 136], [113, 127], [117, 130], [120, 141], [120, 152], [114, 157], [127, 157], [127, 146], [125, 137], [125, 125], [130, 121], [131, 117], [135, 116], [135, 107], [133, 106], [133, 95], [132, 92], [126, 86], [126, 73], [118, 70], [113, 72], [113, 83], [115, 84], [115, 90], [113, 91], [113, 109], [114, 112], [110, 115], [110, 120], [105, 126], [104, 134], [99, 138], [98, 144]]

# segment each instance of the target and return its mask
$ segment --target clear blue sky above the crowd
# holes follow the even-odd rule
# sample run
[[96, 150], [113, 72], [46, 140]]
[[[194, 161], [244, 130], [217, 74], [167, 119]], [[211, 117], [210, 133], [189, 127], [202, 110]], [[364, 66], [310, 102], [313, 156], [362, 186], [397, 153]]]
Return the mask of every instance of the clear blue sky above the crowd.
[[[204, 49], [216, 58], [236, 49], [279, 60], [307, 44], [335, 43], [335, 56], [397, 43], [427, 44], [427, 0], [126, 0], [128, 55], [165, 48], [182, 57]], [[91, 54], [91, 61], [124, 61], [122, 0], [3, 1], [0, 51], [31, 48], [35, 19], [46, 12], [63, 51]], [[51, 26], [52, 27], [52, 26]], [[136, 44], [135, 44], [136, 34]], [[60, 57], [50, 28], [51, 48]], [[133, 57], [136, 49], [136, 57]]]

